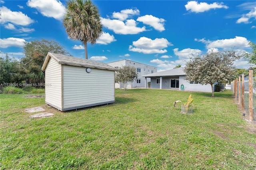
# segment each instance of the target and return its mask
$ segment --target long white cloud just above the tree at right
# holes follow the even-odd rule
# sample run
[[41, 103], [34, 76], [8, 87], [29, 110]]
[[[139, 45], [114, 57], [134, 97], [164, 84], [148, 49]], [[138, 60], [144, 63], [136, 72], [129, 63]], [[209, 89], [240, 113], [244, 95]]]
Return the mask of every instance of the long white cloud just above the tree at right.
[[222, 48], [222, 49], [243, 49], [249, 47], [248, 43], [249, 41], [244, 37], [236, 36], [236, 38], [230, 38], [230, 39], [222, 39], [222, 40], [216, 40], [216, 41], [210, 41], [210, 40], [197, 40], [198, 42], [203, 42], [206, 44], [206, 48]]

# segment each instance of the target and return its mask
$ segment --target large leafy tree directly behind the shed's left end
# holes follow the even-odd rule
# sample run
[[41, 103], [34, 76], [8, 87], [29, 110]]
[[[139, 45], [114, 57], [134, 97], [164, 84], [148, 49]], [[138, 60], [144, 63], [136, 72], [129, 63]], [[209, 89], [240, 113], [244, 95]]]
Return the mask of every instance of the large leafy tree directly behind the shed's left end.
[[48, 52], [69, 55], [68, 51], [54, 40], [25, 42], [25, 57], [21, 59], [21, 63], [29, 71], [27, 83], [44, 83], [44, 73], [41, 68]]

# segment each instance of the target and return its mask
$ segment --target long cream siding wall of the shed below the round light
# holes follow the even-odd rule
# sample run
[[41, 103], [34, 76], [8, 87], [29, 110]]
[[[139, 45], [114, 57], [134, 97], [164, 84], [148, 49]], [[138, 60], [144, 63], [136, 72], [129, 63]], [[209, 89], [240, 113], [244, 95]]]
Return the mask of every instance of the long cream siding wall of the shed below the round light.
[[63, 109], [110, 103], [114, 97], [114, 71], [63, 65]]

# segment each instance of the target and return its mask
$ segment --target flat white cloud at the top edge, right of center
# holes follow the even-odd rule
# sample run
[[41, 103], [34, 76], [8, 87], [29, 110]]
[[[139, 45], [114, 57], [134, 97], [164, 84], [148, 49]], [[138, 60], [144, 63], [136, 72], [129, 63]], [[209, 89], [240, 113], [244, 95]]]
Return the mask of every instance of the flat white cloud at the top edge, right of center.
[[216, 8], [225, 8], [227, 9], [228, 6], [223, 5], [223, 2], [218, 3], [218, 2], [214, 2], [212, 4], [207, 4], [206, 2], [200, 2], [198, 4], [197, 1], [189, 1], [186, 5], [186, 10], [187, 11], [191, 11], [191, 12], [205, 12], [208, 11], [210, 9], [216, 9]]

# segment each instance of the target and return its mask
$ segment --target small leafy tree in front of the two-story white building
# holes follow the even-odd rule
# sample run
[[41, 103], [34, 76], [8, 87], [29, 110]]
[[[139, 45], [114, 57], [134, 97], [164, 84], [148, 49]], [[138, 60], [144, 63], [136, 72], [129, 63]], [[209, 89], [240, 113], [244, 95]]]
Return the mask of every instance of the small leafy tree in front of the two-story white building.
[[119, 67], [116, 71], [115, 81], [123, 83], [125, 90], [125, 84], [129, 81], [133, 82], [136, 78], [138, 78], [137, 68], [125, 65], [123, 67]]

